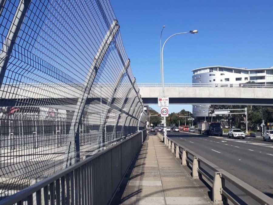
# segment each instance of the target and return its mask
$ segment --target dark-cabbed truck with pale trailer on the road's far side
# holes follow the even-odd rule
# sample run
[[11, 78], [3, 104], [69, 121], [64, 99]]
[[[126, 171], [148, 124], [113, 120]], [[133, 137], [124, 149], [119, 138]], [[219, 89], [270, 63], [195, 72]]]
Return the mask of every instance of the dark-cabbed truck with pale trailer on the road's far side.
[[198, 123], [198, 132], [205, 135], [223, 135], [223, 130], [219, 122]]

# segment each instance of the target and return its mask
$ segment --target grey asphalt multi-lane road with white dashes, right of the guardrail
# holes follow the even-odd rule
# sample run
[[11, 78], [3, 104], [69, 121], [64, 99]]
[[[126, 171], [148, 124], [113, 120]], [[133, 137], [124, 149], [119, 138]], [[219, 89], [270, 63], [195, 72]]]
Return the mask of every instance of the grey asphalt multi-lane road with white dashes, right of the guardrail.
[[272, 142], [187, 132], [168, 132], [168, 137], [273, 198]]

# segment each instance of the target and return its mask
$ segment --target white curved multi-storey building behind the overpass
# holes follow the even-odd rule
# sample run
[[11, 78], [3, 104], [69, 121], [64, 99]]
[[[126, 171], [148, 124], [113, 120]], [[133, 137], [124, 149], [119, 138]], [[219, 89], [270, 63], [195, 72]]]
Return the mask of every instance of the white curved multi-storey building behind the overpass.
[[[256, 84], [273, 84], [273, 67], [270, 68], [234, 68], [210, 66], [192, 70], [192, 83], [204, 84], [242, 84], [254, 81]], [[197, 121], [208, 117], [210, 105], [193, 105], [193, 116]], [[208, 121], [208, 119], [206, 119]]]

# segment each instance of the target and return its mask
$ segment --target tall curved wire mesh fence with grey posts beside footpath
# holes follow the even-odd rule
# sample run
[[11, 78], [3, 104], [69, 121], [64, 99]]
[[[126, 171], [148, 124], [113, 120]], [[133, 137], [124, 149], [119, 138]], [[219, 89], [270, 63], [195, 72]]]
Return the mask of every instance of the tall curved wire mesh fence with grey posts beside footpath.
[[0, 0], [0, 194], [145, 126], [109, 0]]

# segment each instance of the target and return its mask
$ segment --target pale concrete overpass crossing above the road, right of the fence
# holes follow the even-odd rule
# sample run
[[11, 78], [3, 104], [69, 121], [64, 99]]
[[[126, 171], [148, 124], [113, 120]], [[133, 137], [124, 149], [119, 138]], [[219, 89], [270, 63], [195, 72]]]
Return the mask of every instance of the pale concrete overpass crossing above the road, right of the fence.
[[[137, 84], [144, 105], [157, 104], [162, 84]], [[273, 105], [273, 85], [165, 84], [170, 104]]]

